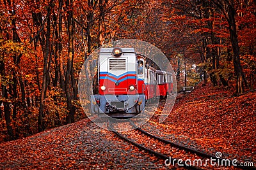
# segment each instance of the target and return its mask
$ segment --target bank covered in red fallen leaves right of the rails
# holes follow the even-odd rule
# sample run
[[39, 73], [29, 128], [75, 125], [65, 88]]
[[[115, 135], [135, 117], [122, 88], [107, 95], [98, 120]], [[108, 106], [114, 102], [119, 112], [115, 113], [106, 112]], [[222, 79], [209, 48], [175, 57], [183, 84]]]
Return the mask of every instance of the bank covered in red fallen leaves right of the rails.
[[195, 141], [205, 152], [256, 162], [256, 92], [232, 96], [227, 89], [199, 85], [186, 97], [177, 98], [169, 117], [155, 125], [177, 138]]

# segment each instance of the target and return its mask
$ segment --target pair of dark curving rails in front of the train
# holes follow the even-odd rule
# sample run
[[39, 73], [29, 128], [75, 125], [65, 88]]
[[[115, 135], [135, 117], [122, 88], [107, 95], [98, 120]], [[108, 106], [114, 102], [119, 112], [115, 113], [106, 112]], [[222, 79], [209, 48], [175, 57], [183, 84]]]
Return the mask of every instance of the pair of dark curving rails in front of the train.
[[[157, 141], [160, 141], [160, 142], [162, 142], [162, 143], [164, 143], [166, 145], [174, 146], [175, 148], [178, 148], [179, 150], [184, 150], [186, 152], [186, 154], [189, 154], [189, 153], [193, 154], [193, 153], [195, 153], [196, 155], [202, 157], [202, 159], [215, 160], [214, 162], [217, 162], [217, 161], [221, 162], [221, 160], [223, 160], [223, 159], [218, 158], [218, 157], [216, 157], [214, 155], [209, 155], [208, 153], [200, 152], [200, 151], [195, 150], [193, 148], [188, 148], [186, 146], [179, 145], [177, 143], [173, 143], [172, 141], [168, 141], [168, 140], [163, 139], [161, 137], [154, 136], [153, 134], [150, 134], [149, 132], [144, 131], [140, 127], [137, 127], [136, 125], [134, 125], [134, 123], [132, 123], [130, 121], [129, 121], [129, 124], [131, 124], [132, 127], [134, 127], [134, 129], [136, 131], [141, 132], [141, 134], [145, 134], [146, 136], [148, 136], [148, 137], [150, 137], [152, 139], [157, 139]], [[132, 143], [132, 145], [134, 145], [134, 146], [136, 146], [136, 147], [138, 147], [138, 148], [140, 148], [142, 150], [145, 150], [148, 153], [152, 153], [152, 154], [156, 155], [156, 157], [158, 157], [159, 159], [170, 160], [171, 162], [174, 162], [175, 164], [177, 164], [177, 161], [180, 159], [180, 158], [170, 157], [170, 155], [165, 155], [165, 154], [163, 154], [161, 152], [156, 152], [155, 150], [152, 150], [152, 149], [148, 148], [147, 146], [141, 145], [140, 143], [136, 143], [133, 139], [127, 138], [124, 134], [122, 134], [122, 133], [120, 133], [120, 132], [115, 130], [115, 128], [113, 127], [113, 122], [111, 122], [110, 120], [108, 122], [108, 126], [109, 126], [109, 129], [111, 131], [113, 131], [119, 138], [122, 138], [125, 141], [128, 141], [129, 143]], [[227, 159], [225, 159], [225, 160], [227, 160]], [[236, 167], [239, 168], [239, 169], [256, 169], [255, 167], [243, 167], [243, 166], [241, 166], [241, 162], [236, 162], [236, 164], [237, 164]], [[182, 163], [179, 162], [179, 165], [180, 165], [180, 167], [185, 167], [186, 169], [202, 169], [201, 167], [190, 166], [188, 164], [185, 164], [184, 162], [182, 162]], [[211, 168], [211, 167], [205, 167], [205, 169], [209, 169], [209, 168]]]

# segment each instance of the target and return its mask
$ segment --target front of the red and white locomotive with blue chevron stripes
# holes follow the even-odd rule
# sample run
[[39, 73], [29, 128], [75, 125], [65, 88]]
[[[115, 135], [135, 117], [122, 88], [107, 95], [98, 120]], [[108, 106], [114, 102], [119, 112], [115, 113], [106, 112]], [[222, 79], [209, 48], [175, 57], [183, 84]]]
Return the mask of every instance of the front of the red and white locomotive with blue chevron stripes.
[[91, 96], [93, 113], [129, 118], [145, 107], [138, 94], [137, 59], [134, 48], [101, 48], [98, 62], [99, 94]]

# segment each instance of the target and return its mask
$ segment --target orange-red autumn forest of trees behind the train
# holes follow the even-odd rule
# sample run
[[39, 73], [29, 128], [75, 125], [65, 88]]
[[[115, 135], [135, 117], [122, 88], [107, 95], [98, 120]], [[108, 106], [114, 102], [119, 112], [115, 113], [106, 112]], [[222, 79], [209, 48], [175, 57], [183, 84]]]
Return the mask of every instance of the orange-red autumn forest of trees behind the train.
[[85, 118], [79, 71], [117, 39], [157, 46], [180, 86], [186, 64], [190, 83], [255, 89], [255, 0], [0, 1], [0, 142]]

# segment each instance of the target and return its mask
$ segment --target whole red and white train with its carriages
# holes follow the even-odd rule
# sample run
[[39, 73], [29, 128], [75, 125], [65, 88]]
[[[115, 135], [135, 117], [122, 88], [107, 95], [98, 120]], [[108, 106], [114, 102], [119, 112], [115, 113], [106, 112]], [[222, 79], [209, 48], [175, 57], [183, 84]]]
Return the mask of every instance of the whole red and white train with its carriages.
[[91, 96], [92, 113], [110, 117], [134, 117], [148, 99], [173, 91], [172, 73], [146, 64], [134, 48], [101, 48], [98, 60], [99, 94]]

